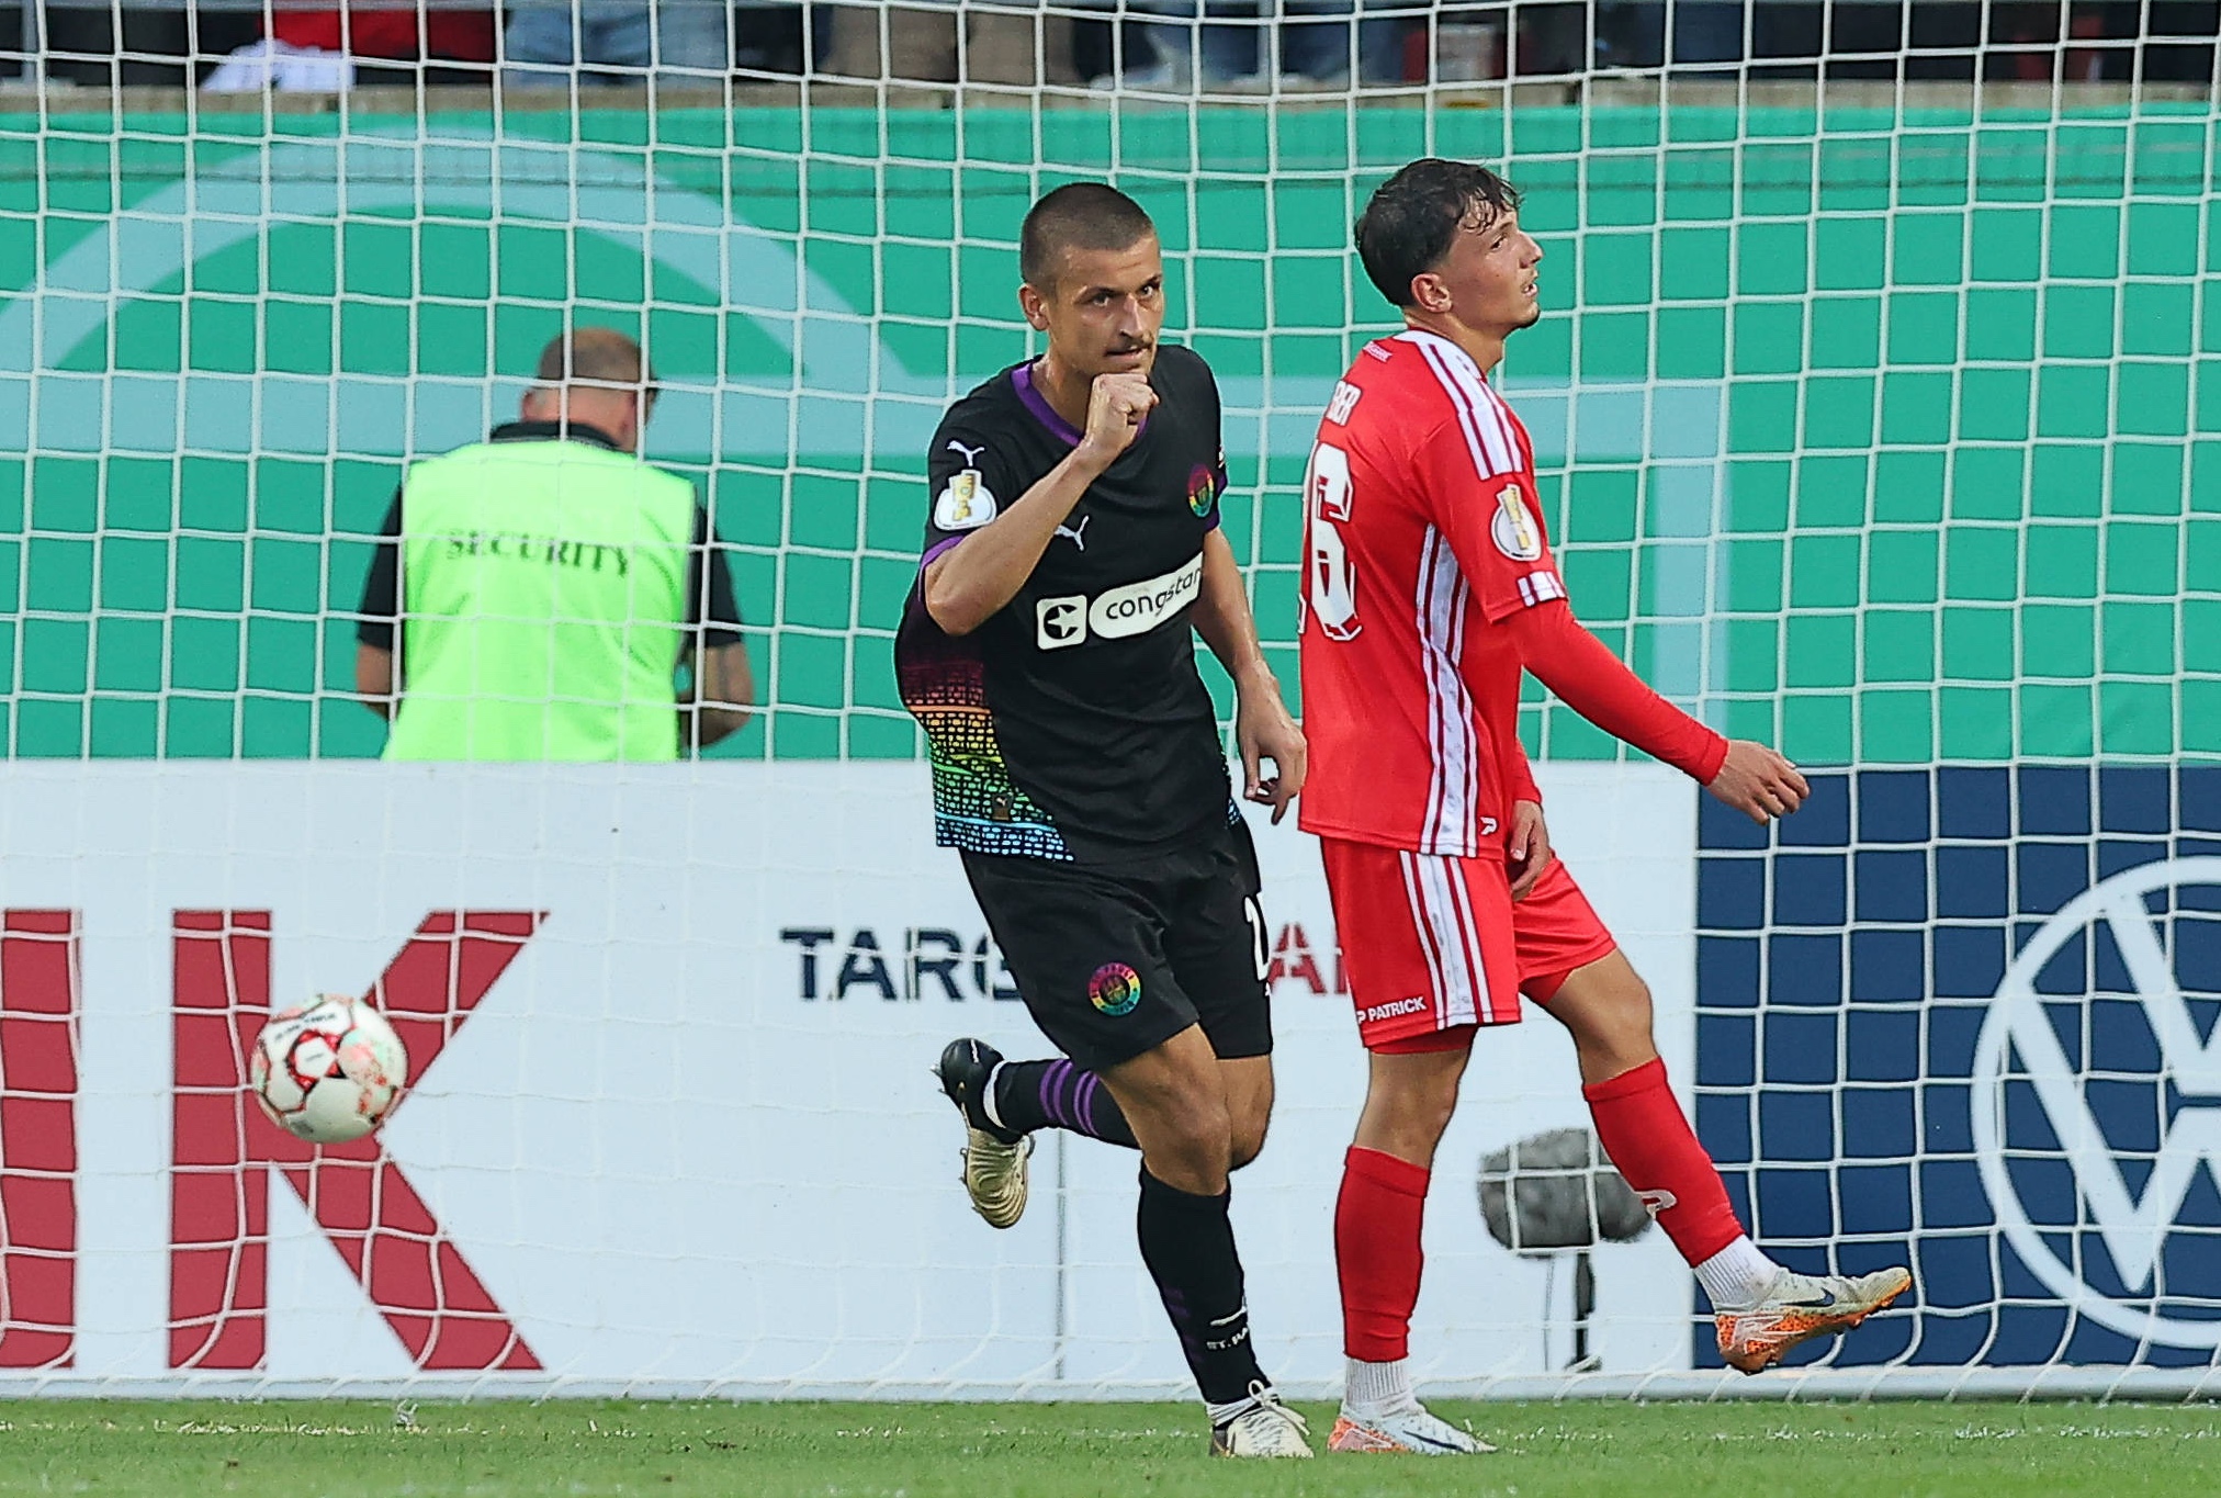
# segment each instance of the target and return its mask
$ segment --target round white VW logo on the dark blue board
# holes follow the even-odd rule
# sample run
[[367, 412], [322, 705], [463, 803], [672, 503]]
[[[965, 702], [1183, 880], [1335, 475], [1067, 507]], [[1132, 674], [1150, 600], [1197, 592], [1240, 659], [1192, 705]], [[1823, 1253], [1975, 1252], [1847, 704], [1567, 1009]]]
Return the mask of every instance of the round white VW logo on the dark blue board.
[[[2183, 889], [2205, 889], [2199, 907], [2212, 913], [2179, 916], [2170, 956], [2165, 907], [2154, 916], [2148, 898], [2181, 905]], [[2221, 1347], [2221, 1318], [2181, 1314], [2221, 1302], [2212, 1276], [2221, 1227], [2177, 1225], [2201, 1174], [2221, 1160], [2221, 1022], [2199, 1022], [2221, 985], [2208, 978], [2183, 991], [2179, 958], [2192, 925], [2221, 925], [2221, 858], [2117, 873], [2043, 922], [2006, 969], [1974, 1047], [1974, 1156], [2006, 1240], [2074, 1311], [2139, 1342]], [[2090, 978], [2101, 929], [2128, 973], [2125, 993]], [[2041, 993], [2043, 969], [2061, 953], [2074, 960], [2081, 938], [2077, 991]], [[2168, 1285], [2170, 1238], [2203, 1249], [2197, 1282]]]

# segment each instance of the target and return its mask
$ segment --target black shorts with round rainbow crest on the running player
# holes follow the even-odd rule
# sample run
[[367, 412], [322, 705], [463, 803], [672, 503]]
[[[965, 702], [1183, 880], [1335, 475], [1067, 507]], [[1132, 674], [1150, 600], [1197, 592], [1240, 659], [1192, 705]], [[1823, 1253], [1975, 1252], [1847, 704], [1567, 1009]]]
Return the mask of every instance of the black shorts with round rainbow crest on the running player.
[[1082, 1067], [1188, 1025], [1222, 1060], [1273, 1053], [1257, 849], [1239, 820], [1135, 862], [964, 853], [964, 873], [1033, 1022]]

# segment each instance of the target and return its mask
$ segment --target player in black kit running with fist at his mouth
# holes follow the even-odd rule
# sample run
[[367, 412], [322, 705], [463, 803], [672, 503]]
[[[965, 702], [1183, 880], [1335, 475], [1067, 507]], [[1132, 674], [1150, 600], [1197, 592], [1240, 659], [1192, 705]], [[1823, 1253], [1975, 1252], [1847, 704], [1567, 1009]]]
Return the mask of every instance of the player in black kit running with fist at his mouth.
[[979, 1040], [942, 1053], [964, 1182], [1008, 1227], [1033, 1129], [1137, 1145], [1142, 1262], [1210, 1449], [1310, 1456], [1257, 1367], [1226, 1214], [1228, 1174], [1273, 1109], [1273, 1022], [1257, 856], [1195, 636], [1235, 680], [1244, 791], [1273, 820], [1302, 789], [1304, 736], [1219, 533], [1219, 391], [1202, 358], [1157, 342], [1164, 256], [1126, 193], [1046, 193], [1019, 271], [1048, 351], [933, 433], [933, 518], [895, 640], [935, 836], [962, 851], [1028, 1011], [1071, 1058], [1004, 1062]]

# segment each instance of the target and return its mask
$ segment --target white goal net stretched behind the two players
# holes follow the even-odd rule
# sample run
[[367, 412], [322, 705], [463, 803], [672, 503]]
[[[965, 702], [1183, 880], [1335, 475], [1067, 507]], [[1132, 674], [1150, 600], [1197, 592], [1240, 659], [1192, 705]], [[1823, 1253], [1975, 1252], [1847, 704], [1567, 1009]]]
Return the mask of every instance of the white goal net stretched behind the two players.
[[[2208, 1389], [2210, 7], [742, 7], [733, 71], [449, 9], [326, 16], [335, 60], [302, 16], [47, 7], [0, 64], [0, 1387], [1177, 1389], [1133, 1158], [1044, 1140], [991, 1234], [924, 1078], [1044, 1051], [895, 693], [924, 449], [1037, 347], [1031, 200], [1117, 182], [1293, 693], [1310, 433], [1393, 324], [1348, 227], [1439, 153], [1548, 256], [1501, 382], [1575, 609], [1817, 782], [1768, 838], [1524, 709], [1757, 1240], [1919, 1276], [1746, 1389]], [[393, 16], [435, 62], [369, 51]], [[689, 4], [642, 16], [677, 58]], [[586, 324], [649, 347], [760, 711], [691, 767], [375, 765], [402, 465]], [[1315, 851], [1259, 840], [1282, 1100], [1237, 1225], [1266, 1365], [1328, 1389], [1361, 1062]], [[287, 1147], [242, 1040], [373, 987], [411, 1100]], [[1730, 1389], [1586, 1127], [1548, 1018], [1488, 1038], [1424, 1387]]]

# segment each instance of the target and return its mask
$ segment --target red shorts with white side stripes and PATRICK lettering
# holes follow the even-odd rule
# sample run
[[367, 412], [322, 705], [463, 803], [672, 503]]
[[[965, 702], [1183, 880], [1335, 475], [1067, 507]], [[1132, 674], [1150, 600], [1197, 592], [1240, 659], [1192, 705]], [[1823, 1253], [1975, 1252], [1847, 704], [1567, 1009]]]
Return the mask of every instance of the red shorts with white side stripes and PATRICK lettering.
[[1566, 973], [1617, 947], [1559, 860], [1513, 905], [1493, 858], [1344, 838], [1321, 838], [1319, 851], [1366, 1049], [1444, 1049], [1399, 1042], [1513, 1025], [1521, 989], [1555, 993]]

